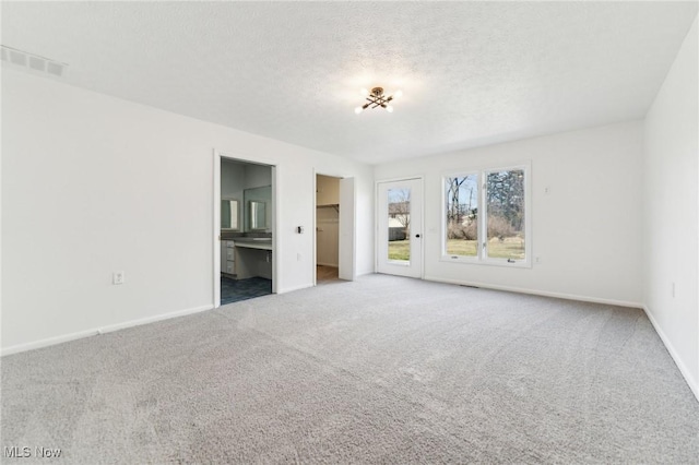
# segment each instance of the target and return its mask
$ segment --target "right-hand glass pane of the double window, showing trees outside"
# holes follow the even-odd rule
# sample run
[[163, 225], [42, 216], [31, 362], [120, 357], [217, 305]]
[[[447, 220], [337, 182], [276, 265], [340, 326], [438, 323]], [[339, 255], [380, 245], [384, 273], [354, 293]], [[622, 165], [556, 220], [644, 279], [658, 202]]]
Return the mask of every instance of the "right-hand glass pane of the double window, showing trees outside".
[[488, 258], [524, 260], [524, 170], [486, 177]]

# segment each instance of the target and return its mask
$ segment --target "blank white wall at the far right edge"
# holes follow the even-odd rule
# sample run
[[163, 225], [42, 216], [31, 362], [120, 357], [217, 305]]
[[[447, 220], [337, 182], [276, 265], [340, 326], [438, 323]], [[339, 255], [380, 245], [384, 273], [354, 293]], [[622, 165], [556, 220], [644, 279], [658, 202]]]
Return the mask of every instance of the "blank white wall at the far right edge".
[[[699, 95], [697, 20], [648, 116], [643, 299], [699, 397]], [[674, 296], [673, 296], [674, 285]]]

